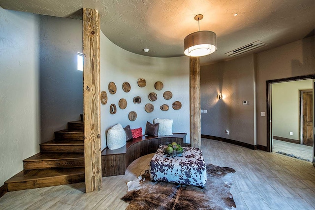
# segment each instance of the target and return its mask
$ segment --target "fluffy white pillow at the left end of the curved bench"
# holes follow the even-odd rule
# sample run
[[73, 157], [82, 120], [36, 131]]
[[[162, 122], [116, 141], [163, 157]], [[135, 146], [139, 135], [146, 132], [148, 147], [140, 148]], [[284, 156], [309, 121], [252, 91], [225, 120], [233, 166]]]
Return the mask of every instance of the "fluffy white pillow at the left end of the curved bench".
[[121, 124], [114, 125], [107, 132], [107, 147], [116, 150], [126, 145], [126, 132]]

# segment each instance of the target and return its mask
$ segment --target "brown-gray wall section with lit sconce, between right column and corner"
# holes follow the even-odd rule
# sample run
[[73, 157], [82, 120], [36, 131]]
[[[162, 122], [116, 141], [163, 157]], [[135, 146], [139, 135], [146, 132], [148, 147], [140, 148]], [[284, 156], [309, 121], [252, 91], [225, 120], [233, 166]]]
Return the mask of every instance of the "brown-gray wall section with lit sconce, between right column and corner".
[[[253, 55], [201, 66], [200, 82], [201, 109], [207, 110], [201, 113], [201, 134], [254, 145]], [[249, 105], [242, 105], [243, 100]]]

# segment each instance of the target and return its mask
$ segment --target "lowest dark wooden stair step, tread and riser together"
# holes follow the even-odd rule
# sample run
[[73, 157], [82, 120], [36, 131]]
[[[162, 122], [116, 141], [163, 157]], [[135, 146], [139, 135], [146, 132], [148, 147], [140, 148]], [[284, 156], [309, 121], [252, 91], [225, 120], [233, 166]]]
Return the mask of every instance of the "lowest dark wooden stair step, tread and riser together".
[[84, 181], [84, 167], [23, 170], [5, 181], [8, 191], [71, 184]]

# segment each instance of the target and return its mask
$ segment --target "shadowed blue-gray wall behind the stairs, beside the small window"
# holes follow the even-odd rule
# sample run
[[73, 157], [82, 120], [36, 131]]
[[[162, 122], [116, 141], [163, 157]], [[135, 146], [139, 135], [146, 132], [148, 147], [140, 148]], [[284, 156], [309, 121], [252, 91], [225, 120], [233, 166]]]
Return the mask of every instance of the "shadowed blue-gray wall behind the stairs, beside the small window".
[[40, 16], [41, 142], [83, 114], [82, 20]]

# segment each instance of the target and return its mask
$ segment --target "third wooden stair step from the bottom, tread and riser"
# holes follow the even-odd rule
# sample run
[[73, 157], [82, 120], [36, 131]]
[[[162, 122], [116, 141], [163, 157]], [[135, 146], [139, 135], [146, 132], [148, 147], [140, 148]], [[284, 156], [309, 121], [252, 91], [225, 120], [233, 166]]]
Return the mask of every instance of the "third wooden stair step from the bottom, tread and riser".
[[51, 140], [40, 144], [41, 152], [84, 152], [84, 141]]

